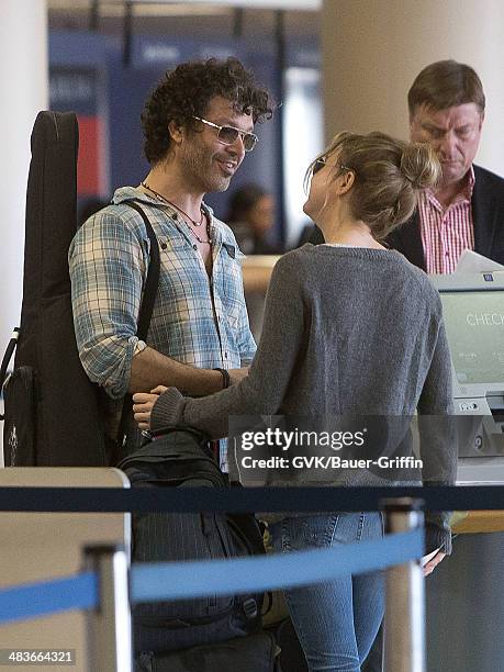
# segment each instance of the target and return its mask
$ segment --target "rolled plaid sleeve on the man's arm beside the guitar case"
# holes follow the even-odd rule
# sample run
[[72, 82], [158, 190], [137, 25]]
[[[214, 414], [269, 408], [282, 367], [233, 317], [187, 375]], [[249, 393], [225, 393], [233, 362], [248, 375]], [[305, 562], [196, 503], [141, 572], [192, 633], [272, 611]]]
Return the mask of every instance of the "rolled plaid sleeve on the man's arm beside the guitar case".
[[127, 392], [138, 341], [145, 275], [142, 244], [127, 219], [101, 212], [88, 220], [70, 245], [69, 270], [82, 367], [109, 396], [120, 399]]

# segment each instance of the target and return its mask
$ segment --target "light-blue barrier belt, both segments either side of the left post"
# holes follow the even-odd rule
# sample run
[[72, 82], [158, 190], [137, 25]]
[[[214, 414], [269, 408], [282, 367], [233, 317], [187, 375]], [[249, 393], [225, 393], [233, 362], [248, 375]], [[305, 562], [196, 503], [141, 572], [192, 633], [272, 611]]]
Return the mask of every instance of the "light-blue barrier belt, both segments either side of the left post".
[[[328, 549], [268, 557], [134, 564], [131, 601], [158, 602], [213, 594], [261, 592], [331, 581], [402, 564], [424, 551], [424, 530], [387, 535]], [[98, 606], [98, 576], [85, 572], [0, 590], [0, 625]]]

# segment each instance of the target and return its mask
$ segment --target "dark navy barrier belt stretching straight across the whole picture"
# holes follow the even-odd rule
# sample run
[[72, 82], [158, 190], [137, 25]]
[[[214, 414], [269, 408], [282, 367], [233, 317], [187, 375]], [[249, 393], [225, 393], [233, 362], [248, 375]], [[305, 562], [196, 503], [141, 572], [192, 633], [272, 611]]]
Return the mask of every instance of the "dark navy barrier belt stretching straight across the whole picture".
[[0, 488], [0, 511], [333, 512], [379, 511], [387, 497], [425, 501], [426, 511], [504, 511], [502, 485], [407, 488]]

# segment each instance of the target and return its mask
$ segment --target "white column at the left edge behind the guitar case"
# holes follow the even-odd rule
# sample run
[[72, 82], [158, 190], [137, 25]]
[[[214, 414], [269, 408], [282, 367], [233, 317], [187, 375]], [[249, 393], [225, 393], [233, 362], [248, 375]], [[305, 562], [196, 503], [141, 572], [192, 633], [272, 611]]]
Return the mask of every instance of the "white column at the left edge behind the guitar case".
[[45, 0], [2, 0], [0, 90], [0, 354], [3, 355], [21, 314], [30, 133], [36, 113], [48, 104]]

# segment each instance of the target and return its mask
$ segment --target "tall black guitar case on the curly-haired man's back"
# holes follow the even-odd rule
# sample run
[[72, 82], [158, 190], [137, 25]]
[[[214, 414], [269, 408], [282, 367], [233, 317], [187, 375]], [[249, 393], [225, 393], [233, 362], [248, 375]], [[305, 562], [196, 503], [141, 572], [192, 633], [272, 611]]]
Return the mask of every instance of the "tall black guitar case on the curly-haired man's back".
[[5, 467], [101, 467], [105, 441], [98, 388], [77, 351], [67, 254], [77, 231], [79, 128], [74, 113], [40, 112], [26, 192], [24, 281], [18, 341], [4, 382]]

